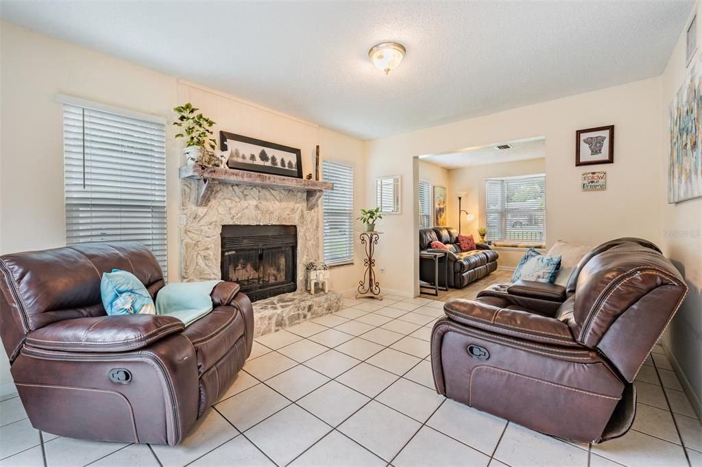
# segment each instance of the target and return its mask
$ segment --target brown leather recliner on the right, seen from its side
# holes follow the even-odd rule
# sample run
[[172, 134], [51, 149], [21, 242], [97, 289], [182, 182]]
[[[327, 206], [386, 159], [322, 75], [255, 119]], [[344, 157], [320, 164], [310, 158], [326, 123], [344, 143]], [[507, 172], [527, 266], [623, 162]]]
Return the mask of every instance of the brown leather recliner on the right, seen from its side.
[[568, 287], [522, 281], [451, 300], [432, 331], [437, 391], [560, 438], [616, 438], [686, 294], [655, 245], [622, 238], [585, 255]]

